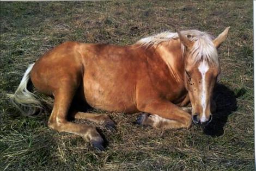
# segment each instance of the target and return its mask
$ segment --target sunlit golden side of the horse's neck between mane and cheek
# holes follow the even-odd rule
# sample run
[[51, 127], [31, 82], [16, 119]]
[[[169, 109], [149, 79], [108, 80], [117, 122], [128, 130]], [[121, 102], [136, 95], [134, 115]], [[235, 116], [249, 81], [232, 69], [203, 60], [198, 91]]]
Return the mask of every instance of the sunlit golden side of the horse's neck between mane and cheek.
[[156, 47], [156, 50], [168, 66], [169, 72], [175, 81], [181, 82], [184, 77], [184, 59], [180, 41], [162, 42]]

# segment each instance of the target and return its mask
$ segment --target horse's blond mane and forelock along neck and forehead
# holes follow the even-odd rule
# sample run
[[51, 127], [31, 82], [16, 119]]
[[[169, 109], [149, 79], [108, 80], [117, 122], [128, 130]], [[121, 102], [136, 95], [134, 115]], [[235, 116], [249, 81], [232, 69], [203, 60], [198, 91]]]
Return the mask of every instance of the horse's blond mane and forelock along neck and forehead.
[[[206, 60], [218, 65], [218, 54], [217, 49], [212, 42], [212, 36], [208, 33], [198, 30], [186, 30], [181, 31], [181, 34], [187, 36], [188, 39], [194, 42], [194, 46], [191, 49], [192, 58], [194, 62]], [[143, 39], [136, 42], [141, 46], [153, 46], [159, 45], [161, 42], [179, 39], [178, 33], [163, 32]], [[181, 44], [181, 50], [184, 52], [184, 45]]]

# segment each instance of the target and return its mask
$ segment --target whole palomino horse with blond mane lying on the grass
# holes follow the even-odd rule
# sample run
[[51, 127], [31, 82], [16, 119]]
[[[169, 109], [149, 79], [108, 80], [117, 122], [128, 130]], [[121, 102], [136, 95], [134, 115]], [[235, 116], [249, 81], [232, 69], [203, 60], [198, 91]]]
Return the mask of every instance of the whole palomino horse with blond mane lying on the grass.
[[[12, 102], [42, 109], [27, 90], [31, 79], [37, 90], [54, 96], [48, 126], [80, 135], [102, 150], [103, 139], [93, 125], [70, 122], [87, 119], [114, 127], [106, 114], [70, 112], [72, 101], [83, 100], [96, 109], [143, 112], [137, 123], [155, 128], [189, 128], [192, 121], [207, 124], [215, 103], [212, 90], [220, 73], [217, 48], [227, 39], [229, 27], [216, 39], [198, 30], [164, 32], [134, 45], [115, 46], [65, 42], [47, 52], [27, 71]], [[181, 106], [192, 104], [192, 115]]]

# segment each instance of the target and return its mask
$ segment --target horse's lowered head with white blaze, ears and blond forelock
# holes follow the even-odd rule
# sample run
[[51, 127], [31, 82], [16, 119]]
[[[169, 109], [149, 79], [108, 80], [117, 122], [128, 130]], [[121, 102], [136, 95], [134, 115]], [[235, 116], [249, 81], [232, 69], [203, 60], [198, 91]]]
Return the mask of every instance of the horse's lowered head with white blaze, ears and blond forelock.
[[192, 119], [196, 124], [211, 122], [212, 93], [221, 68], [217, 48], [227, 39], [229, 27], [215, 40], [197, 30], [177, 31], [184, 56], [184, 83], [192, 104]]

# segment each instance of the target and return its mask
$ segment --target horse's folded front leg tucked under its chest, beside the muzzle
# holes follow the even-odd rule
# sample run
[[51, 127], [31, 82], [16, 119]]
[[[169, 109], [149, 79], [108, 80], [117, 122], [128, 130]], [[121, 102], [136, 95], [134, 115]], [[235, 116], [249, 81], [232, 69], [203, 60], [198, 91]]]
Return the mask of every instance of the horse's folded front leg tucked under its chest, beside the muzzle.
[[[155, 128], [189, 128], [191, 115], [164, 99], [142, 100], [137, 102], [139, 111], [145, 112], [137, 118], [137, 123]], [[147, 115], [150, 113], [152, 115]]]

